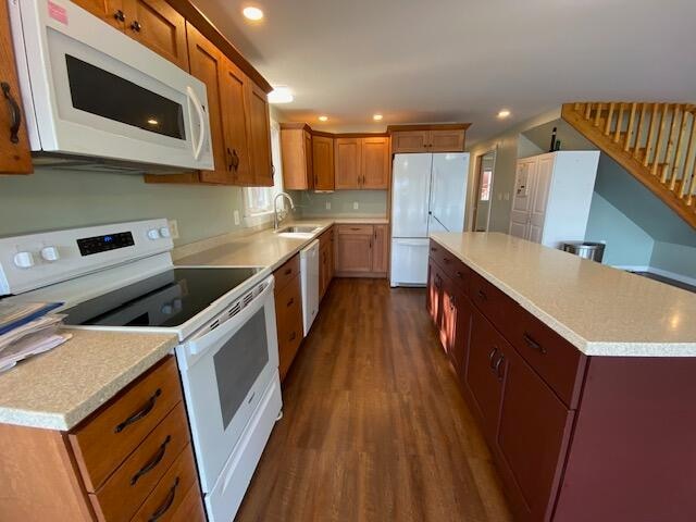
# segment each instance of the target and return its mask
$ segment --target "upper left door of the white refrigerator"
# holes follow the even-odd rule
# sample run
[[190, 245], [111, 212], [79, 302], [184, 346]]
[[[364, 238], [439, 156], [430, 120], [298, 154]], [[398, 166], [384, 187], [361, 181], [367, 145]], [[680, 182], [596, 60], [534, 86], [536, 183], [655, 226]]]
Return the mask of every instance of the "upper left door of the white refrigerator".
[[427, 237], [433, 154], [396, 154], [391, 187], [391, 237]]

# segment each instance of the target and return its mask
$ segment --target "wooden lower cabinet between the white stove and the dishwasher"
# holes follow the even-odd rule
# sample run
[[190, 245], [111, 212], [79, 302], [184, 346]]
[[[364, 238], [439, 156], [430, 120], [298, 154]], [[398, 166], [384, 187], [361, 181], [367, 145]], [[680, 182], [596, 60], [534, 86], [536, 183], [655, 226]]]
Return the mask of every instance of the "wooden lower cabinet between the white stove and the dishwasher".
[[299, 254], [296, 254], [273, 273], [281, 381], [287, 375], [303, 338], [302, 281], [299, 265]]

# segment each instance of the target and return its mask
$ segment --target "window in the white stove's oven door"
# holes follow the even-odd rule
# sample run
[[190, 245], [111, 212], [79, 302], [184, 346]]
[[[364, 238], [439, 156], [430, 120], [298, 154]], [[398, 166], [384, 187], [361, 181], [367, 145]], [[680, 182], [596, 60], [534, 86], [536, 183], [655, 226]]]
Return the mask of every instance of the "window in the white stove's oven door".
[[213, 357], [225, 430], [268, 363], [269, 340], [261, 308]]

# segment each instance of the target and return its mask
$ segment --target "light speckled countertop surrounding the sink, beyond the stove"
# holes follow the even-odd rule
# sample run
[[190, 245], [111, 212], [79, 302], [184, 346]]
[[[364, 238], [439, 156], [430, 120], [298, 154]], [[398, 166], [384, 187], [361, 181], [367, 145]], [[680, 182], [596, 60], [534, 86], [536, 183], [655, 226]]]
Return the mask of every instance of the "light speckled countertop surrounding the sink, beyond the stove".
[[[386, 225], [386, 217], [335, 217], [335, 219], [303, 219], [287, 221], [281, 228], [288, 225], [316, 224], [321, 228], [312, 237], [293, 238], [275, 234], [271, 228], [229, 238], [224, 243], [204, 248], [199, 252], [177, 258], [179, 265], [216, 265], [216, 266], [270, 266], [275, 270], [288, 259], [299, 252], [304, 246], [316, 239], [326, 228], [341, 224], [374, 224]], [[201, 241], [202, 243], [202, 241]]]

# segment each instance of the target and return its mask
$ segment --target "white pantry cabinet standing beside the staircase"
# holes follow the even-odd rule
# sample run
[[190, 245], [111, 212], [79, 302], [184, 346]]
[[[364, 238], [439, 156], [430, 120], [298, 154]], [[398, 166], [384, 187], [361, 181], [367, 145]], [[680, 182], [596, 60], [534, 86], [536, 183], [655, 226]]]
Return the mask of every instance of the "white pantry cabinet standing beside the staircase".
[[518, 160], [510, 235], [552, 248], [584, 240], [598, 163], [595, 150]]

